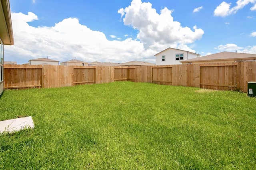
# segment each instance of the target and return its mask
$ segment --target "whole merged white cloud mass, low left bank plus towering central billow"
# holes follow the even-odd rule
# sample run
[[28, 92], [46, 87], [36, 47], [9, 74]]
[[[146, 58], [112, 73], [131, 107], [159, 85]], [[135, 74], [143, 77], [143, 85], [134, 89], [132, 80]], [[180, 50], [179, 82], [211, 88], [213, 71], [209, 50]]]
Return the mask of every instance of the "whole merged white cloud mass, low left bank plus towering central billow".
[[195, 52], [188, 43], [193, 43], [204, 34], [196, 25], [193, 31], [174, 21], [172, 10], [164, 8], [158, 14], [150, 3], [133, 0], [129, 7], [118, 10], [125, 25], [138, 30], [137, 39], [124, 40], [110, 35], [110, 41], [100, 31], [94, 31], [79, 23], [77, 18], [66, 18], [51, 27], [34, 27], [29, 23], [38, 20], [32, 12], [12, 13], [14, 45], [6, 46], [5, 60], [27, 63], [28, 60], [49, 57], [57, 61], [80, 59], [122, 63], [142, 60], [155, 63], [154, 55], [172, 47]]

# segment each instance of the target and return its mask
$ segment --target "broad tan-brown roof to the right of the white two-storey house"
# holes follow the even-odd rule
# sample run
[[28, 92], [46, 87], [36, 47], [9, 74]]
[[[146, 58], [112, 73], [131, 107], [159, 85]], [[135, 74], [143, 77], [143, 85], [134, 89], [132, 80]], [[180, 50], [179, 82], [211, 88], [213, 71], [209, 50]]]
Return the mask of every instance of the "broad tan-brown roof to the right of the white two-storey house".
[[204, 57], [198, 57], [186, 61], [180, 61], [181, 63], [189, 63], [192, 61], [223, 61], [223, 60], [256, 60], [256, 54], [248, 54], [248, 53], [234, 53], [234, 52], [221, 52], [215, 53], [211, 55], [206, 55]]

